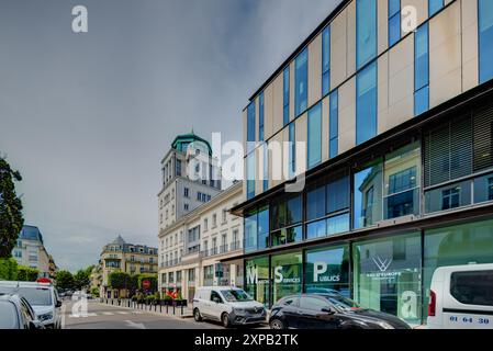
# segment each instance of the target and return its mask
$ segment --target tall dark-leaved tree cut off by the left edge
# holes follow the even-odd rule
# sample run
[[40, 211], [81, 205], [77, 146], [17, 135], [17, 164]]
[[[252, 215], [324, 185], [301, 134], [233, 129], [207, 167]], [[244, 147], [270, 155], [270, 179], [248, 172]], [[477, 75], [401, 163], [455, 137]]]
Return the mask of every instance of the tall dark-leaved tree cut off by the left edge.
[[21, 181], [19, 171], [13, 171], [0, 157], [0, 258], [9, 258], [24, 225], [22, 202], [15, 194], [14, 180]]

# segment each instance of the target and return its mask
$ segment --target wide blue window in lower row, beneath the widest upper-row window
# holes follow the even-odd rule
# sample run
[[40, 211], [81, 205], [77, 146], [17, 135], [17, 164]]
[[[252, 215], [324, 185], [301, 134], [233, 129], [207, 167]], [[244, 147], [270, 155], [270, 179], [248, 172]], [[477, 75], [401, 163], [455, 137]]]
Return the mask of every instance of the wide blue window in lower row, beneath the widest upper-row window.
[[356, 91], [356, 144], [360, 145], [377, 135], [377, 63], [357, 75]]

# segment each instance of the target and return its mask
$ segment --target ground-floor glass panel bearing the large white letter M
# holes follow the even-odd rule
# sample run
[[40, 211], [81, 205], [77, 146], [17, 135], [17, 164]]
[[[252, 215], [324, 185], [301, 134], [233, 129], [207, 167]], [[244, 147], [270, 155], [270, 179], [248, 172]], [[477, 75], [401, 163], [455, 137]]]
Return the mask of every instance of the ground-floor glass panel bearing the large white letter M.
[[269, 306], [269, 258], [261, 257], [245, 261], [246, 284], [245, 291], [255, 301]]

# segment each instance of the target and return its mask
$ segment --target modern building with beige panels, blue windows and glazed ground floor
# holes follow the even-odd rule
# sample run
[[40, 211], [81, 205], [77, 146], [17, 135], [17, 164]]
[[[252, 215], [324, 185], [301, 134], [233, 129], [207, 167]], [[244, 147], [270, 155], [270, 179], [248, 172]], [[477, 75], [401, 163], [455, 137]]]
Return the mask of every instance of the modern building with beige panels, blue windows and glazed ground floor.
[[[493, 263], [491, 2], [341, 1], [254, 93], [245, 173], [268, 181], [246, 182], [232, 212], [256, 299], [338, 291], [419, 325], [436, 268]], [[289, 141], [305, 146], [264, 162]]]

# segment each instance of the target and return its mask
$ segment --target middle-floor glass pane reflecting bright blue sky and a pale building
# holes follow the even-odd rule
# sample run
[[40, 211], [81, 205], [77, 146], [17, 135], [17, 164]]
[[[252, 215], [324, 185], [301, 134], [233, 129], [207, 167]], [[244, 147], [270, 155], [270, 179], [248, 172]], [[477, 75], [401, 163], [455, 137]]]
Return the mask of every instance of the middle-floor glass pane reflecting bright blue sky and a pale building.
[[354, 227], [371, 226], [382, 220], [382, 161], [369, 163], [355, 173]]

